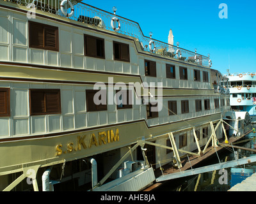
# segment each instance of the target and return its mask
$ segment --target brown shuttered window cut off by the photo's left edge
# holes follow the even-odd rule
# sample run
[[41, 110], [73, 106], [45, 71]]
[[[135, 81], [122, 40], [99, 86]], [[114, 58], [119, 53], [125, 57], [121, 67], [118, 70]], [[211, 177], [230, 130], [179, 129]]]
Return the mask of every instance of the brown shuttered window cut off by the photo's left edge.
[[10, 89], [0, 88], [0, 117], [10, 116]]

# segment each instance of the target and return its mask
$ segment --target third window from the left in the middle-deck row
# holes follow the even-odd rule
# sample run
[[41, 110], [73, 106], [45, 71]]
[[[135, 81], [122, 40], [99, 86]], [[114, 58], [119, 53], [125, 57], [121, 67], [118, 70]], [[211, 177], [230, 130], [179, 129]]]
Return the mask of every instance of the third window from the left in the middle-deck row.
[[107, 91], [86, 90], [86, 111], [93, 112], [102, 110], [108, 110]]

